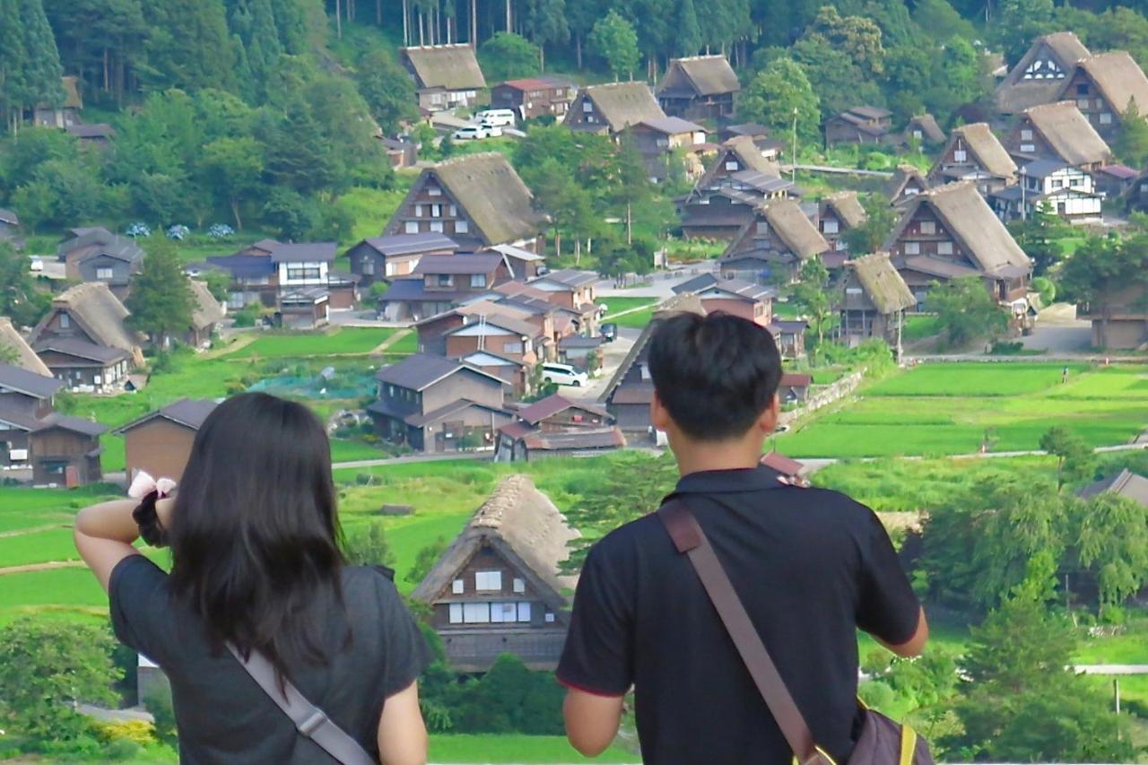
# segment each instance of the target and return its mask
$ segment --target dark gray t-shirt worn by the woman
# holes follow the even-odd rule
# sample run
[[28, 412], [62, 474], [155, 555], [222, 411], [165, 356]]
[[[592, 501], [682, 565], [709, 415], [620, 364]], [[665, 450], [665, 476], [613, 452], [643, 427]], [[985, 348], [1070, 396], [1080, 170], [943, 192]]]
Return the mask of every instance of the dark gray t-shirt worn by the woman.
[[[380, 569], [346, 567], [346, 610], [333, 598], [312, 618], [325, 623], [327, 666], [292, 666], [292, 680], [378, 757], [383, 701], [422, 672], [429, 650], [414, 619]], [[141, 555], [122, 561], [109, 585], [116, 636], [160, 665], [171, 680], [180, 762], [334, 763], [255, 685], [226, 651], [212, 651], [203, 621], [169, 597], [168, 574]], [[351, 641], [344, 646], [347, 627]]]

